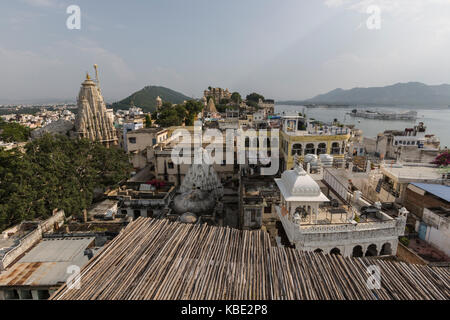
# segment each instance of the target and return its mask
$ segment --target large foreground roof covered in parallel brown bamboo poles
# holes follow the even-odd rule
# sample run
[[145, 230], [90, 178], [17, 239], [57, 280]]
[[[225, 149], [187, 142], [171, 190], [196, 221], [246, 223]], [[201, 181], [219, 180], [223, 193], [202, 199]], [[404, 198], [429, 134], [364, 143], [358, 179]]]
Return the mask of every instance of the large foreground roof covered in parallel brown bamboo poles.
[[[193, 250], [195, 249], [195, 250]], [[53, 300], [448, 300], [447, 268], [272, 247], [264, 231], [139, 218]], [[369, 265], [383, 281], [368, 289]], [[338, 272], [337, 272], [338, 270]], [[418, 290], [417, 288], [420, 288]]]

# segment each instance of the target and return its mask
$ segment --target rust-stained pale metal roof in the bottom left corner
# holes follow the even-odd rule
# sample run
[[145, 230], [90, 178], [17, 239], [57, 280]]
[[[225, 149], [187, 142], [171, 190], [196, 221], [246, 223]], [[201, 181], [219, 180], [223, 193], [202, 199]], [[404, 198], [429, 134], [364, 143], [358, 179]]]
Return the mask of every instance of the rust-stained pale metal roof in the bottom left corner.
[[65, 282], [67, 268], [82, 268], [89, 260], [84, 250], [95, 238], [44, 239], [0, 275], [0, 286], [53, 286]]

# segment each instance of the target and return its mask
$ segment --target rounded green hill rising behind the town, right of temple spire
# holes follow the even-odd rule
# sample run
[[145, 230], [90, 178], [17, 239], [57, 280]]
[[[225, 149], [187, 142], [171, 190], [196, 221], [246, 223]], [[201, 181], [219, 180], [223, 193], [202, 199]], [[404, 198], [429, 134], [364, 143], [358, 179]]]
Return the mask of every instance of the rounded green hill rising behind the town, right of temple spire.
[[174, 90], [159, 87], [147, 86], [142, 90], [133, 93], [128, 98], [112, 104], [114, 110], [128, 109], [132, 104], [142, 108], [144, 112], [153, 112], [156, 109], [156, 97], [161, 97], [163, 102], [182, 103], [185, 100], [191, 100], [188, 96]]

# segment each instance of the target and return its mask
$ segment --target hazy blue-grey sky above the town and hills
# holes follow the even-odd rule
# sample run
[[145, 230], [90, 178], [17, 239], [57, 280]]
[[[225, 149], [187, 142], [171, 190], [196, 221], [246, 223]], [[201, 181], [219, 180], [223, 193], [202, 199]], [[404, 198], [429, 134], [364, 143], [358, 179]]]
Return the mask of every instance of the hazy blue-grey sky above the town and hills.
[[[81, 8], [81, 30], [66, 8]], [[369, 30], [367, 8], [381, 8]], [[8, 0], [0, 103], [75, 99], [100, 67], [105, 98], [146, 85], [304, 99], [396, 82], [450, 83], [450, 0]]]

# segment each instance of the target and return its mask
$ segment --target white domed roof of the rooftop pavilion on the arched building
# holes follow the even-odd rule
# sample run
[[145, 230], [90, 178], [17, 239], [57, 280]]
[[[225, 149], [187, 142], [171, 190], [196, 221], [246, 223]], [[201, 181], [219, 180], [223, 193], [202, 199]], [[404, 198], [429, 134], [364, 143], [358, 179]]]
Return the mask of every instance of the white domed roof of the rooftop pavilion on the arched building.
[[315, 197], [321, 194], [317, 182], [301, 167], [283, 172], [281, 180], [293, 196]]

